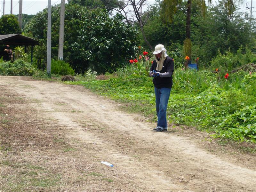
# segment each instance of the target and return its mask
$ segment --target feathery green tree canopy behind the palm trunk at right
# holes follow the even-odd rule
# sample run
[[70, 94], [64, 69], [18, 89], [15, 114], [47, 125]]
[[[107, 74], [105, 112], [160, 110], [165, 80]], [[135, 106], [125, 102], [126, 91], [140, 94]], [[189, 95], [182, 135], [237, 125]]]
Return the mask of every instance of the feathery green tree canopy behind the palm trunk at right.
[[[172, 22], [164, 22], [160, 17], [161, 3], [155, 4], [149, 9], [149, 20], [144, 26], [144, 31], [148, 41], [152, 45], [159, 43], [172, 46], [172, 51], [182, 52], [182, 44], [185, 39], [185, 21], [187, 2], [182, 1], [177, 11], [173, 15]], [[252, 29], [255, 21], [252, 22]], [[254, 49], [255, 33], [251, 33], [248, 19], [245, 12], [235, 11], [231, 16], [228, 10], [220, 4], [209, 6], [202, 17], [201, 8], [197, 4], [192, 4], [191, 9], [191, 40], [192, 59], [200, 57], [204, 63], [210, 64], [210, 60], [220, 53], [230, 51], [236, 52], [242, 45]], [[140, 38], [142, 39], [142, 37]], [[141, 42], [143, 46], [146, 43]], [[175, 48], [178, 48], [175, 51]], [[183, 55], [185, 56], [185, 55]]]

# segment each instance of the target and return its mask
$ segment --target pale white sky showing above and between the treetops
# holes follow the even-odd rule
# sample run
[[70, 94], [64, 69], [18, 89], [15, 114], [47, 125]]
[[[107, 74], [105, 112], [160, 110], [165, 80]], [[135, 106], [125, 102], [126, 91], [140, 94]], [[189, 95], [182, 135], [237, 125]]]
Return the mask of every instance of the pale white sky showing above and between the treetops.
[[[67, 0], [65, 1], [68, 2]], [[152, 4], [154, 1], [149, 0], [149, 3]], [[216, 5], [216, 0], [212, 1], [214, 5]], [[3, 3], [4, 0], [0, 0], [0, 16], [3, 15]], [[241, 10], [248, 12], [250, 16], [250, 9], [246, 10], [245, 3], [249, 3], [249, 7], [251, 7], [251, 0], [244, 0], [243, 7]], [[51, 0], [51, 4], [60, 4], [60, 0]], [[44, 8], [48, 6], [48, 0], [23, 0], [22, 1], [22, 13], [25, 14], [36, 14], [37, 12], [42, 11]], [[255, 18], [256, 15], [256, 0], [252, 0], [252, 15]], [[11, 0], [5, 0], [4, 6], [4, 14], [10, 14], [11, 12]], [[12, 0], [12, 14], [19, 14], [19, 0]]]

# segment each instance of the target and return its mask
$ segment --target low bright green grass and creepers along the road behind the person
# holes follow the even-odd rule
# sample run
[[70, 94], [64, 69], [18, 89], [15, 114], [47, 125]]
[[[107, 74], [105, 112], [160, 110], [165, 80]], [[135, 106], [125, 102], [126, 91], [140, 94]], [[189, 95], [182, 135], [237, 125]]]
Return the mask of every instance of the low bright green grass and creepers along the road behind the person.
[[[125, 73], [123, 73], [125, 74]], [[66, 84], [87, 89], [123, 103], [122, 109], [156, 121], [152, 79], [121, 76], [108, 80], [78, 79]], [[228, 80], [211, 71], [176, 70], [167, 109], [167, 119], [174, 125], [194, 126], [238, 142], [256, 143], [256, 73], [230, 74]]]

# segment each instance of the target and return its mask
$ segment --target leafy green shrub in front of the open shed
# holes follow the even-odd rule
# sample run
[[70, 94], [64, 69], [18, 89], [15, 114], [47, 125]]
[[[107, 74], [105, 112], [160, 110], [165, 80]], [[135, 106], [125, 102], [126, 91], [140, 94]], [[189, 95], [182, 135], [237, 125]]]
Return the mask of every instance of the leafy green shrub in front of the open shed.
[[22, 59], [15, 60], [13, 63], [10, 61], [0, 63], [0, 75], [32, 76], [35, 73], [36, 68]]

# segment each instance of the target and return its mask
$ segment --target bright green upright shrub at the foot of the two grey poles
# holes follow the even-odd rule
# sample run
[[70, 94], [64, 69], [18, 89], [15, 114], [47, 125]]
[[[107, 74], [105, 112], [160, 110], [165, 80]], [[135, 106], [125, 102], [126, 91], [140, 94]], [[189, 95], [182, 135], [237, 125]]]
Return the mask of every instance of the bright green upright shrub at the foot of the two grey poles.
[[69, 63], [65, 63], [65, 61], [52, 60], [51, 73], [59, 75], [74, 75], [75, 70], [69, 65]]

